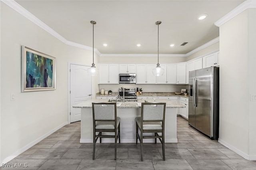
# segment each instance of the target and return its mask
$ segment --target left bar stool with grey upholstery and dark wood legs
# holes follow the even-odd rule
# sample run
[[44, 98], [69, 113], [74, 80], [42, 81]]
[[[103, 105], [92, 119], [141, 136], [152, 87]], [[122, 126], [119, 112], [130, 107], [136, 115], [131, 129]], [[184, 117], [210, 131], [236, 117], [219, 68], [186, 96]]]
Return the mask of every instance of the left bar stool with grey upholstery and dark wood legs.
[[[100, 138], [115, 138], [115, 160], [116, 160], [116, 143], [120, 143], [120, 117], [116, 117], [116, 103], [107, 102], [92, 103], [93, 114], [93, 153], [92, 159], [95, 159], [95, 145]], [[118, 133], [117, 133], [118, 130]], [[96, 134], [98, 132], [98, 134]], [[103, 135], [102, 132], [114, 132], [113, 135]]]

